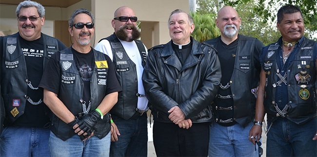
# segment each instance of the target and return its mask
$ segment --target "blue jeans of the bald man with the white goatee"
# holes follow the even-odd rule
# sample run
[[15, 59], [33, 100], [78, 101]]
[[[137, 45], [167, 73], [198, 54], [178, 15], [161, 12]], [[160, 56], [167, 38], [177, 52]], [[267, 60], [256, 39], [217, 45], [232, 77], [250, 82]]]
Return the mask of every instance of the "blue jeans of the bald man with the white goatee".
[[209, 157], [258, 157], [258, 148], [249, 141], [253, 123], [245, 128], [236, 123], [222, 126], [214, 122], [210, 126]]

